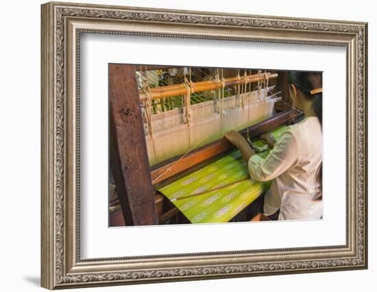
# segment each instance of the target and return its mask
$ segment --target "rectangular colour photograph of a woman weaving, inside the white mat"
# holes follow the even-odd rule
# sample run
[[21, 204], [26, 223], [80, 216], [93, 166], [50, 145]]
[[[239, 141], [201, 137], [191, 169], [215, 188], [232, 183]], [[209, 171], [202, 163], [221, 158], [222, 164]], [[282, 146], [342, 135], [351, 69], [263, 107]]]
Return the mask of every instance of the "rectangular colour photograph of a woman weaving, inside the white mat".
[[153, 191], [146, 203], [124, 187], [117, 157], [134, 150], [117, 145], [132, 136], [110, 131], [110, 227], [322, 219], [322, 72], [117, 66], [109, 78], [127, 94], [110, 81], [110, 96], [138, 104], [145, 139], [133, 147]]

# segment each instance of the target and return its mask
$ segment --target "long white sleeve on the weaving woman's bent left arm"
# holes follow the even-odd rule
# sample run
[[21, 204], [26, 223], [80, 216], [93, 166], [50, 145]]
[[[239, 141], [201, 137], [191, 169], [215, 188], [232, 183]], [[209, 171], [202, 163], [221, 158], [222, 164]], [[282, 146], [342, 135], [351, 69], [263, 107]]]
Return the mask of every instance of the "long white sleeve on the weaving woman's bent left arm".
[[250, 157], [248, 168], [251, 178], [255, 181], [271, 181], [295, 165], [298, 152], [295, 135], [291, 131], [284, 131], [265, 159], [258, 155]]

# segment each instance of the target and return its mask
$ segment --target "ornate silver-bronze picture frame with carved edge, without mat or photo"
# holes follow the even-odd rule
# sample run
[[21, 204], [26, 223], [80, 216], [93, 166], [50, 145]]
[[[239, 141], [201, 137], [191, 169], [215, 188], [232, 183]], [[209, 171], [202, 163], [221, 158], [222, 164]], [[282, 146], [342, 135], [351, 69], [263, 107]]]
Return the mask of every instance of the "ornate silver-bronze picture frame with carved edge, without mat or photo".
[[[367, 268], [367, 23], [127, 8], [42, 5], [42, 287], [62, 289]], [[80, 33], [347, 48], [346, 244], [80, 259]]]

